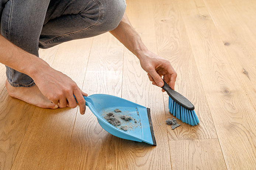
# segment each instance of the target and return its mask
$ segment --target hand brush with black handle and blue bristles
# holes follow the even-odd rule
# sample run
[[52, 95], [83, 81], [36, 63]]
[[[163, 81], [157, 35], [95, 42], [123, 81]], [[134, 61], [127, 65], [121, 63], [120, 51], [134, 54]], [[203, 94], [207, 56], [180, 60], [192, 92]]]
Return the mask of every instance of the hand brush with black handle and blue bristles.
[[194, 105], [187, 100], [186, 97], [179, 94], [177, 91], [172, 90], [170, 86], [163, 80], [163, 90], [169, 95], [169, 111], [177, 119], [182, 122], [195, 126], [199, 123], [197, 115], [194, 111]]

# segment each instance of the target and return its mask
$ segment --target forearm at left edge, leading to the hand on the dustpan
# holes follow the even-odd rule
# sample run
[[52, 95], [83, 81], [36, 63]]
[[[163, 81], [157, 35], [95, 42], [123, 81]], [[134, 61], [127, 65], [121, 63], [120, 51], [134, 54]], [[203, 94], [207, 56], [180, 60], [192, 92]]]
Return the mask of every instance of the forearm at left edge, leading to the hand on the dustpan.
[[0, 62], [28, 76], [33, 76], [40, 68], [49, 65], [39, 57], [32, 55], [0, 35]]

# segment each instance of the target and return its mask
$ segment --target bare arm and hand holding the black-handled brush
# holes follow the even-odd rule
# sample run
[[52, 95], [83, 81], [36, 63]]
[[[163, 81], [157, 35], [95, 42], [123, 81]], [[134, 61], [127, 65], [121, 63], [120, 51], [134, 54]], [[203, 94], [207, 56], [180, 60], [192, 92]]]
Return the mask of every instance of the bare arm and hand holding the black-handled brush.
[[152, 84], [162, 87], [163, 80], [161, 77], [163, 76], [163, 79], [174, 89], [177, 73], [172, 65], [168, 60], [159, 57], [146, 48], [141, 41], [141, 37], [129, 22], [126, 13], [117, 28], [111, 30], [110, 33], [138, 57], [141, 67], [148, 73]]

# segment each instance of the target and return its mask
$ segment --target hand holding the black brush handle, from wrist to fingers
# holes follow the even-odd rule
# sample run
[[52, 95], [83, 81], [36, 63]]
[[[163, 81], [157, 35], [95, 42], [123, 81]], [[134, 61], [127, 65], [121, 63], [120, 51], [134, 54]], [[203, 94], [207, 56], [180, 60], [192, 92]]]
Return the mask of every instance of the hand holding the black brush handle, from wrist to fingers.
[[[147, 51], [140, 58], [141, 67], [148, 73], [149, 80], [153, 85], [163, 87], [163, 79], [174, 90], [177, 73], [167, 59]], [[164, 92], [165, 90], [162, 89]]]

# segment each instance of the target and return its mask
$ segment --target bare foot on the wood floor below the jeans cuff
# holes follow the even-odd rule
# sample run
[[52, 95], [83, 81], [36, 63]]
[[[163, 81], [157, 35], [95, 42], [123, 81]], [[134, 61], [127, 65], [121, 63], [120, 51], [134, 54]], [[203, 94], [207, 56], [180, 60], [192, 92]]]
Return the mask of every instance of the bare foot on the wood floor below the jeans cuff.
[[6, 80], [5, 87], [11, 97], [20, 99], [40, 108], [57, 109], [58, 105], [53, 104], [38, 89], [37, 85], [32, 87], [13, 87]]

